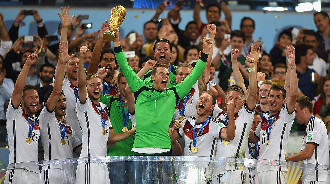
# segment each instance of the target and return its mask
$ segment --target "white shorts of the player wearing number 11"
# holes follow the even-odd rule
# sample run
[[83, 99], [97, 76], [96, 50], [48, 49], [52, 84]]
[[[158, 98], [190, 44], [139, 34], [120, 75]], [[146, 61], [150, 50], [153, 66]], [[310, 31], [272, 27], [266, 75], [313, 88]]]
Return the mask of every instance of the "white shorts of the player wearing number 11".
[[255, 173], [256, 184], [287, 184], [284, 171], [261, 171]]

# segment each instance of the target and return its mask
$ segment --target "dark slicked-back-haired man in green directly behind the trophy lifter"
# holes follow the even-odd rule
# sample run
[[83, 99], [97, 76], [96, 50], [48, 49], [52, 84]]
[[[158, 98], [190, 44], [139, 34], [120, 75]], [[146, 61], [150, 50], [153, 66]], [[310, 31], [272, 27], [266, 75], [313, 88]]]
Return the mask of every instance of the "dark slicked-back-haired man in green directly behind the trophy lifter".
[[[166, 46], [168, 49], [162, 49], [164, 46]], [[167, 87], [172, 88], [173, 86], [177, 85], [178, 81], [175, 79], [175, 76], [177, 75], [178, 66], [170, 64], [170, 59], [172, 57], [172, 46], [168, 39], [161, 38], [155, 42], [153, 46], [153, 57], [155, 57], [157, 63], [165, 64], [169, 70], [170, 80], [167, 84]], [[143, 76], [142, 80], [149, 86], [153, 85], [153, 81], [151, 80], [151, 70], [149, 70]]]

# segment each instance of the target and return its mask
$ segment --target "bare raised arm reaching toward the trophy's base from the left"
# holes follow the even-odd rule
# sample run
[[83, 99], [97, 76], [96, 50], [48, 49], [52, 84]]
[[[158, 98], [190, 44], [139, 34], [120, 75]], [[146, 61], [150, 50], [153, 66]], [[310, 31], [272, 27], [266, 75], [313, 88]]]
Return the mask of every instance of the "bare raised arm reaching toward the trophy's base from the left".
[[95, 47], [92, 52], [92, 59], [90, 60], [90, 63], [88, 65], [86, 74], [90, 73], [96, 73], [99, 62], [100, 62], [100, 57], [101, 57], [101, 52], [102, 52], [102, 46], [104, 42], [103, 34], [108, 30], [109, 25], [108, 25], [109, 19], [104, 21], [102, 23], [100, 33], [99, 33], [99, 38], [96, 41]]

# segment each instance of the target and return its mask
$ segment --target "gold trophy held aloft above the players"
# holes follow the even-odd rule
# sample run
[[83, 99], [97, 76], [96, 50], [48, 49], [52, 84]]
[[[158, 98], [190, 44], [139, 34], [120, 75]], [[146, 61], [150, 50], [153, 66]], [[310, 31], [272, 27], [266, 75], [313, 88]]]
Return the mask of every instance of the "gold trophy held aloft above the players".
[[109, 28], [110, 30], [106, 31], [103, 34], [103, 38], [108, 41], [115, 41], [116, 36], [115, 32], [113, 31], [114, 28], [118, 29], [121, 23], [124, 21], [126, 17], [126, 9], [121, 6], [117, 5], [111, 10], [110, 20], [109, 20]]

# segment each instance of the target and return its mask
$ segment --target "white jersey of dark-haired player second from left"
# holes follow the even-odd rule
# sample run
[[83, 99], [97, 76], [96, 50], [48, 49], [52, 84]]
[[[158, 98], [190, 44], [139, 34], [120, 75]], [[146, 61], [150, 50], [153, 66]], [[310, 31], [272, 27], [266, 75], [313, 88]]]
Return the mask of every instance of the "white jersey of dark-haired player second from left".
[[[44, 164], [47, 164], [48, 160], [72, 158], [73, 150], [81, 145], [82, 142], [76, 137], [75, 131], [71, 126], [69, 124], [64, 124], [64, 140], [66, 143], [65, 145], [62, 145], [60, 128], [63, 127], [63, 122], [55, 117], [55, 110], [51, 112], [45, 105], [39, 115], [39, 120], [41, 142], [45, 154], [44, 160], [46, 161]], [[42, 170], [46, 169], [62, 169], [63, 171], [74, 175], [72, 164], [44, 165]]]

